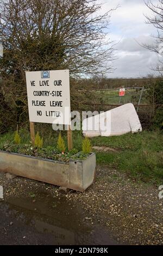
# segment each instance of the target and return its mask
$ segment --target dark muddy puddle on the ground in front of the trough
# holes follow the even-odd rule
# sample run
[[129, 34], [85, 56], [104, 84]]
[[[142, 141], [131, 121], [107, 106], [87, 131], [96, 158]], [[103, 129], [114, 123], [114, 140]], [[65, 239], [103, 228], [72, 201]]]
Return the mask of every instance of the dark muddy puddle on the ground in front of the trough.
[[[5, 202], [0, 202], [0, 214], [5, 214], [4, 223], [11, 219], [13, 223], [18, 222], [23, 231], [28, 227], [32, 229], [30, 233], [43, 235], [45, 244], [46, 241], [51, 245], [116, 244], [106, 229], [83, 221], [85, 215], [82, 209], [70, 204], [65, 196], [61, 196], [59, 200], [50, 197], [47, 192], [41, 194], [39, 200], [10, 197]], [[14, 225], [10, 228], [10, 234], [12, 232], [14, 235]], [[1, 238], [0, 243], [2, 244]], [[35, 244], [34, 238], [33, 243]]]

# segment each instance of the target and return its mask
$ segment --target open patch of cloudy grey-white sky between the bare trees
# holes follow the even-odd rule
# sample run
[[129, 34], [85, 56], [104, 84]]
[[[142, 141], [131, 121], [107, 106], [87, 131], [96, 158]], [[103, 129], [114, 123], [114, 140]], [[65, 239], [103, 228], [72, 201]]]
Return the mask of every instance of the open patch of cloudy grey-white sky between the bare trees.
[[[158, 56], [137, 44], [152, 41], [151, 34], [156, 34], [152, 25], [145, 23], [144, 14], [151, 14], [143, 0], [98, 0], [102, 12], [120, 5], [111, 15], [109, 28], [110, 39], [118, 42], [114, 66], [116, 70], [108, 77], [142, 77], [153, 74]], [[158, 2], [153, 0], [153, 3]]]

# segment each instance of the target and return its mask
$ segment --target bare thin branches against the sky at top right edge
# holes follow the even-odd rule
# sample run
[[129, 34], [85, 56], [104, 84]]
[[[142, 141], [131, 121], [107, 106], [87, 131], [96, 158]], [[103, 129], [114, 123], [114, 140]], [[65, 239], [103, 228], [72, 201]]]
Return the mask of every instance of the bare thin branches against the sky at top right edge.
[[154, 70], [159, 71], [160, 75], [163, 71], [163, 0], [158, 0], [157, 3], [153, 3], [152, 0], [144, 0], [146, 6], [151, 10], [151, 16], [145, 15], [147, 23], [153, 25], [157, 34], [152, 35], [154, 38], [153, 44], [143, 44], [142, 46], [152, 52], [158, 53], [158, 65]]

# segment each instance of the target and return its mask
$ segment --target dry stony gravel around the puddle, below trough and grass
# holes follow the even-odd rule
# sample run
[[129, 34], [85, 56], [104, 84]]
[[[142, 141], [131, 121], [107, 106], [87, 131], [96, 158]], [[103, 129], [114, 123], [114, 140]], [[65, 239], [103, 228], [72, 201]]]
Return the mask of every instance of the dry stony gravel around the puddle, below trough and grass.
[[117, 170], [98, 166], [95, 184], [84, 193], [61, 194], [57, 186], [21, 177], [8, 180], [2, 173], [0, 185], [4, 187], [3, 202], [23, 196], [35, 204], [46, 193], [55, 202], [64, 200], [71, 209], [79, 209], [83, 225], [107, 229], [117, 243], [163, 244], [163, 199], [158, 197], [158, 187], [138, 183]]

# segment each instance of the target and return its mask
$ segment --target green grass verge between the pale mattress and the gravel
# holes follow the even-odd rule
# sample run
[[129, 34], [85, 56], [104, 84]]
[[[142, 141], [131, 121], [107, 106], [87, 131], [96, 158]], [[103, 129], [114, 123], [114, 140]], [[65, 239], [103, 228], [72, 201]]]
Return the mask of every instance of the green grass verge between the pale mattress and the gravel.
[[97, 153], [97, 163], [145, 182], [163, 182], [163, 134], [160, 131], [92, 138], [92, 144], [121, 149], [117, 153]]

